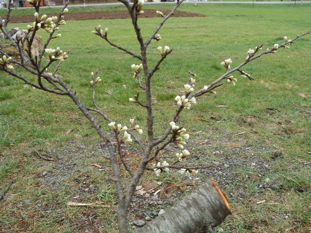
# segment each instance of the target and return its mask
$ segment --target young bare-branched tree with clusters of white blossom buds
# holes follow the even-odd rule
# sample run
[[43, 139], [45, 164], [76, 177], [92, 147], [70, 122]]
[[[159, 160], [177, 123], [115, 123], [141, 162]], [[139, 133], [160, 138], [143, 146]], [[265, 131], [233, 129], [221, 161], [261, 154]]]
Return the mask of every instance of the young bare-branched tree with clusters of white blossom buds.
[[[245, 61], [236, 67], [232, 66], [232, 61], [230, 58], [225, 59], [221, 64], [225, 67], [225, 73], [217, 78], [214, 82], [209, 83], [201, 88], [194, 90], [195, 74], [189, 72], [188, 83], [184, 85], [184, 95], [176, 96], [176, 106], [177, 109], [173, 115], [172, 121], [166, 125], [165, 133], [160, 137], [155, 138], [154, 129], [154, 114], [152, 106], [152, 77], [155, 72], [159, 69], [161, 63], [172, 53], [173, 49], [168, 46], [158, 47], [159, 59], [155, 67], [151, 67], [147, 60], [147, 50], [148, 46], [153, 40], [160, 41], [161, 36], [159, 31], [163, 24], [173, 16], [176, 9], [182, 4], [184, 0], [177, 0], [172, 11], [168, 15], [164, 15], [160, 11], [156, 11], [157, 15], [161, 17], [158, 26], [155, 28], [154, 32], [146, 39], [140, 32], [140, 27], [138, 25], [139, 15], [143, 14], [143, 4], [144, 0], [119, 0], [127, 8], [128, 13], [131, 17], [134, 31], [137, 36], [137, 41], [140, 46], [140, 53], [136, 54], [133, 51], [127, 50], [121, 46], [116, 45], [108, 38], [108, 28], [104, 30], [101, 25], [95, 27], [92, 32], [101, 38], [103, 38], [111, 46], [116, 47], [119, 50], [131, 55], [132, 57], [138, 59], [138, 65], [133, 64], [132, 68], [134, 70], [134, 78], [137, 79], [139, 88], [145, 92], [145, 100], [139, 99], [139, 92], [129, 101], [142, 107], [146, 110], [146, 128], [147, 128], [147, 141], [142, 141], [139, 135], [143, 133], [136, 119], [129, 119], [129, 125], [124, 126], [116, 123], [113, 119], [107, 116], [104, 111], [101, 110], [96, 102], [96, 86], [100, 84], [101, 78], [97, 77], [98, 71], [95, 70], [91, 73], [90, 85], [93, 90], [92, 100], [93, 106], [87, 106], [83, 103], [79, 97], [76, 95], [75, 91], [69, 87], [69, 85], [57, 75], [59, 67], [63, 64], [65, 59], [68, 58], [68, 52], [60, 50], [60, 48], [52, 49], [49, 48], [49, 43], [61, 36], [57, 33], [59, 28], [66, 24], [64, 20], [65, 14], [68, 12], [67, 4], [62, 9], [58, 17], [47, 17], [46, 15], [39, 16], [39, 1], [38, 0], [27, 0], [30, 4], [34, 6], [35, 9], [35, 21], [28, 25], [26, 30], [12, 36], [9, 33], [8, 22], [11, 9], [8, 8], [8, 14], [5, 19], [0, 18], [0, 30], [5, 35], [5, 37], [10, 41], [12, 46], [17, 50], [18, 56], [10, 57], [4, 50], [0, 50], [2, 58], [0, 59], [0, 70], [20, 79], [26, 84], [29, 84], [37, 89], [51, 92], [56, 95], [68, 96], [80, 109], [83, 115], [91, 122], [91, 124], [96, 129], [99, 136], [103, 139], [110, 156], [110, 165], [113, 170], [113, 180], [116, 184], [118, 192], [118, 227], [120, 233], [127, 233], [127, 210], [131, 204], [135, 189], [138, 185], [139, 180], [146, 170], [153, 170], [158, 176], [161, 172], [168, 172], [170, 169], [178, 170], [178, 172], [183, 174], [196, 174], [198, 169], [205, 168], [206, 166], [185, 166], [182, 165], [182, 161], [185, 157], [190, 156], [188, 150], [184, 147], [189, 139], [189, 134], [187, 130], [178, 125], [178, 120], [181, 113], [185, 110], [188, 111], [191, 105], [195, 104], [197, 98], [206, 94], [216, 94], [215, 89], [222, 86], [224, 83], [232, 83], [235, 85], [237, 79], [234, 78], [233, 73], [238, 72], [243, 77], [253, 80], [253, 78], [242, 70], [242, 67], [255, 59], [260, 58], [263, 55], [275, 53], [280, 48], [289, 48], [296, 39], [302, 37], [310, 32], [297, 35], [293, 39], [288, 39], [284, 37], [284, 43], [281, 45], [274, 44], [271, 49], [261, 51], [263, 45], [258, 45], [254, 49], [249, 49], [247, 51], [247, 57]], [[49, 36], [45, 43], [42, 45], [38, 51], [34, 52], [34, 41], [36, 33], [39, 30], [45, 30]], [[48, 72], [48, 68], [52, 64], [57, 63], [52, 73]], [[27, 79], [21, 72], [23, 71], [33, 74], [36, 77], [36, 81], [32, 82]], [[109, 125], [111, 131], [113, 132], [113, 137], [109, 133], [103, 130], [99, 120], [96, 115], [101, 116]], [[113, 144], [116, 142], [116, 144]], [[124, 159], [124, 147], [128, 147], [131, 143], [136, 143], [141, 150], [141, 157], [139, 159], [138, 168], [131, 167]], [[175, 143], [181, 151], [176, 153], [175, 162], [169, 164], [166, 161], [157, 162], [153, 164], [153, 161], [159, 160], [160, 151], [164, 150], [169, 144]], [[130, 174], [131, 180], [127, 185], [124, 185], [121, 180], [121, 166], [118, 165], [117, 160], [121, 160], [121, 166], [124, 166], [125, 170]], [[125, 187], [126, 186], [126, 187]], [[125, 188], [124, 188], [125, 187]]]

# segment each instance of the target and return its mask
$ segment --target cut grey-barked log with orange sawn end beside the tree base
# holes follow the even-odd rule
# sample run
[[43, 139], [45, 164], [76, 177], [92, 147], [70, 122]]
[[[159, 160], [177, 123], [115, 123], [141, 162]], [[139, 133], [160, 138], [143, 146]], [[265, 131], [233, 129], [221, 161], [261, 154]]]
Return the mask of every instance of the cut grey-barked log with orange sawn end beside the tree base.
[[138, 233], [212, 232], [212, 228], [221, 224], [231, 213], [225, 193], [214, 180], [209, 180]]

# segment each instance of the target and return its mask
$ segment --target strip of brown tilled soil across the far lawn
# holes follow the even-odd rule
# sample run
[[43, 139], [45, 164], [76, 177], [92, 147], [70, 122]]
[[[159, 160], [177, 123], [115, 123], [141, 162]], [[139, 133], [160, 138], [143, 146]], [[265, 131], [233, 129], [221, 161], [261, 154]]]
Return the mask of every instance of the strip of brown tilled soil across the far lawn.
[[[155, 10], [144, 10], [143, 15], [139, 15], [142, 18], [159, 17], [156, 15]], [[164, 15], [168, 15], [171, 11], [163, 10]], [[50, 15], [49, 17], [52, 17]], [[66, 20], [87, 20], [87, 19], [116, 19], [116, 18], [129, 18], [129, 14], [124, 11], [108, 11], [108, 12], [77, 12], [67, 14]], [[195, 14], [186, 11], [176, 11], [173, 17], [205, 17], [201, 14]], [[10, 21], [12, 23], [27, 23], [34, 21], [33, 15], [23, 16], [11, 16]]]

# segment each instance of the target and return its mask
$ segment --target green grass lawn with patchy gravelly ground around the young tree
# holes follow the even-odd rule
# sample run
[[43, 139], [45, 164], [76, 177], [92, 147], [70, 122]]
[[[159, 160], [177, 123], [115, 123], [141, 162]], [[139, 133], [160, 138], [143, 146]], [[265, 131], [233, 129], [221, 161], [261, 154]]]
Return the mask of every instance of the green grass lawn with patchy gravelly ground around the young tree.
[[[171, 7], [146, 5], [145, 9]], [[54, 14], [59, 9], [45, 10], [41, 13]], [[122, 9], [72, 8], [80, 10]], [[185, 4], [179, 10], [206, 17], [170, 18], [160, 31], [162, 40], [149, 48], [150, 64], [159, 59], [158, 46], [173, 48], [153, 78], [156, 134], [171, 121], [176, 109], [173, 99], [183, 90], [189, 70], [197, 74], [196, 87], [200, 88], [224, 73], [220, 65], [224, 59], [230, 57], [235, 66], [242, 63], [249, 48], [261, 43], [264, 49], [270, 48], [282, 43], [285, 35], [293, 38], [311, 30], [311, 4], [254, 8]], [[145, 38], [159, 21], [140, 19]], [[90, 72], [98, 67], [103, 81], [97, 86], [97, 99], [103, 111], [122, 125], [135, 116], [145, 132], [143, 109], [128, 101], [138, 91], [131, 69], [138, 61], [90, 33], [98, 24], [109, 28], [114, 43], [139, 51], [129, 19], [68, 21], [60, 29], [62, 37], [51, 43], [51, 47], [70, 50], [59, 74], [91, 106]], [[27, 24], [14, 26], [25, 28]], [[192, 185], [214, 178], [228, 194], [234, 212], [217, 232], [311, 232], [310, 61], [311, 35], [297, 40], [289, 50], [277, 50], [244, 67], [255, 81], [236, 74], [236, 86], [225, 83], [217, 95], [199, 98], [190, 111], [185, 110], [180, 124], [191, 133], [202, 131], [190, 137], [187, 149], [192, 159], [186, 162], [216, 167], [193, 178], [173, 171], [156, 178], [147, 172], [144, 180], [174, 185], [163, 185], [156, 201], [137, 198], [130, 222], [172, 205], [171, 200], [189, 193]], [[95, 130], [69, 99], [23, 85], [0, 73], [0, 190], [14, 180], [0, 202], [0, 232], [115, 232], [115, 188]], [[104, 122], [103, 127], [107, 129]], [[67, 135], [68, 130], [72, 133]], [[241, 132], [246, 133], [236, 135]], [[51, 155], [54, 161], [38, 158], [35, 150]], [[163, 159], [172, 161], [174, 150], [170, 147], [162, 153]], [[131, 161], [138, 155], [135, 147], [128, 152]], [[69, 207], [68, 201], [111, 206]], [[133, 225], [132, 231], [136, 231]]]

